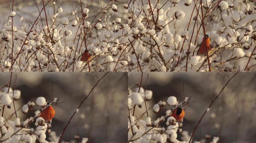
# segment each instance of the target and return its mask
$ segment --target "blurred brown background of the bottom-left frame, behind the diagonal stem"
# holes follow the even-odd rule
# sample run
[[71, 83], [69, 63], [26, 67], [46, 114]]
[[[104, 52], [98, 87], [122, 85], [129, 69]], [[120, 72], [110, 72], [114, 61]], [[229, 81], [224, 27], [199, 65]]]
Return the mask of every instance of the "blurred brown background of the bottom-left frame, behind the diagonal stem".
[[[10, 80], [10, 73], [0, 74], [0, 86], [3, 87]], [[13, 72], [11, 87], [14, 88], [17, 76], [15, 89], [21, 90], [21, 98], [15, 101], [15, 107], [18, 109], [28, 101], [36, 102], [39, 96], [45, 97], [48, 102], [52, 102], [55, 97], [60, 98], [51, 127], [51, 130], [60, 136], [80, 102], [104, 74]], [[77, 135], [80, 138], [88, 137], [88, 143], [127, 142], [127, 83], [127, 73], [108, 73], [71, 120], [63, 140], [74, 140]], [[34, 107], [28, 115], [19, 110], [18, 117], [24, 121], [29, 115], [34, 116], [34, 111], [38, 109], [39, 107]], [[9, 117], [13, 112], [13, 107], [6, 108], [4, 116]]]

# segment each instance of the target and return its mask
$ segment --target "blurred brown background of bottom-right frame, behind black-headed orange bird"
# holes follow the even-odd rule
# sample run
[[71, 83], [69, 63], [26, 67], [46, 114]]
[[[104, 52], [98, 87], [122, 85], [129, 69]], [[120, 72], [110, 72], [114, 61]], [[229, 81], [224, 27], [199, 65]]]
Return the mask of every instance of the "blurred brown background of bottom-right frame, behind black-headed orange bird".
[[[185, 110], [182, 127], [183, 131], [191, 134], [211, 101], [235, 73], [143, 73], [143, 88], [146, 87], [147, 74], [147, 90], [153, 91], [152, 100], [147, 101], [147, 107], [160, 100], [167, 102], [169, 96], [176, 96], [179, 102], [185, 97], [191, 97], [192, 103]], [[129, 73], [128, 77], [128, 86], [132, 88], [140, 80], [141, 73]], [[255, 143], [255, 83], [256, 73], [238, 73], [204, 116], [193, 140], [210, 143], [213, 136], [218, 136], [218, 143]], [[153, 113], [151, 109], [149, 116], [155, 120], [165, 115], [167, 109], [168, 107], [165, 107], [158, 114]], [[143, 108], [137, 108], [135, 111], [135, 115], [141, 115], [146, 111], [144, 104]], [[145, 118], [146, 116], [143, 119]], [[206, 135], [210, 135], [211, 138], [206, 139]]]

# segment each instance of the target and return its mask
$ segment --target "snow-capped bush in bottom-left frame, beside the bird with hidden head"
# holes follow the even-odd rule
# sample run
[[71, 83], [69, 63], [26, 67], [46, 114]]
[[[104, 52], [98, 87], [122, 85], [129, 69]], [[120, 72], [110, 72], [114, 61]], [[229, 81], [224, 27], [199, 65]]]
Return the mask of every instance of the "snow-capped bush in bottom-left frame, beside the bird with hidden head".
[[[2, 110], [2, 116], [0, 117], [0, 142], [47, 143], [46, 134], [51, 133], [52, 121], [45, 121], [44, 118], [39, 116], [43, 109], [56, 105], [58, 101], [57, 98], [54, 98], [52, 102], [46, 102], [45, 98], [39, 97], [36, 99], [36, 103], [29, 101], [21, 108], [15, 108], [15, 102], [19, 100], [20, 97], [20, 90], [12, 90], [12, 88], [4, 87], [0, 91], [0, 105]], [[14, 108], [15, 112], [9, 117], [5, 116], [4, 108]], [[30, 113], [31, 116], [27, 119], [21, 120], [20, 117], [17, 117], [17, 112], [22, 111], [23, 114], [28, 114], [32, 109], [36, 109], [36, 111], [34, 114]], [[14, 116], [16, 116], [16, 118], [12, 121]]]

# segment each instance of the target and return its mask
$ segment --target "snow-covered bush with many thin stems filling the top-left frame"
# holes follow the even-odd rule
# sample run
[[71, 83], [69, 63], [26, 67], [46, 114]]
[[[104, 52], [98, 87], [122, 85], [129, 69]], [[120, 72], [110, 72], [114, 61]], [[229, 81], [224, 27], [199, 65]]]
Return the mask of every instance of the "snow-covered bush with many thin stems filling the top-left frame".
[[[49, 6], [52, 2], [53, 7]], [[61, 1], [45, 1], [31, 19], [23, 19], [13, 9], [1, 20], [0, 71], [126, 71], [126, 2], [68, 2], [64, 9], [58, 7]], [[90, 9], [90, 4], [98, 8]], [[63, 17], [64, 12], [68, 15]], [[80, 61], [85, 50], [91, 57]]]

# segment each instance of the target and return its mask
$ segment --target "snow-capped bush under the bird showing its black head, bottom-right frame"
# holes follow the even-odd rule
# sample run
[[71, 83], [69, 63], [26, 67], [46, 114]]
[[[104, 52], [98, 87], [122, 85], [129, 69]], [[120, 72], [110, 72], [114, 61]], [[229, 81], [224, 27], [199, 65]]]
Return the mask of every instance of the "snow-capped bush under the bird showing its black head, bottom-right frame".
[[[138, 88], [137, 88], [138, 89]], [[134, 114], [134, 110], [139, 110], [146, 104], [146, 101], [150, 101], [152, 98], [152, 91], [146, 90], [140, 87], [138, 90], [129, 89], [128, 95], [128, 142], [130, 143], [147, 143], [150, 140], [154, 140], [159, 143], [171, 142], [171, 143], [186, 143], [185, 141], [177, 140], [177, 133], [182, 132], [182, 121], [178, 122], [174, 117], [171, 117], [173, 110], [185, 105], [188, 98], [185, 98], [183, 102], [177, 102], [176, 97], [171, 96], [165, 101], [159, 101], [153, 107], [147, 107], [147, 110], [153, 109], [155, 113], [158, 113], [165, 106], [170, 106], [170, 109], [166, 111], [165, 115], [153, 120], [148, 111], [143, 111], [140, 115]], [[150, 98], [148, 98], [150, 96]], [[175, 103], [174, 103], [175, 102]], [[171, 104], [171, 105], [170, 105]], [[136, 108], [137, 106], [137, 108]], [[140, 108], [138, 108], [140, 107]], [[141, 113], [141, 112], [140, 112]], [[142, 120], [143, 116], [148, 115], [145, 120]], [[161, 123], [166, 123], [167, 127], [161, 127]]]

